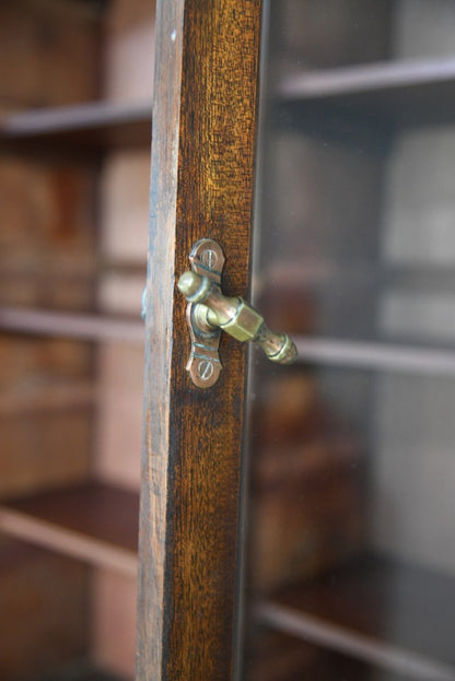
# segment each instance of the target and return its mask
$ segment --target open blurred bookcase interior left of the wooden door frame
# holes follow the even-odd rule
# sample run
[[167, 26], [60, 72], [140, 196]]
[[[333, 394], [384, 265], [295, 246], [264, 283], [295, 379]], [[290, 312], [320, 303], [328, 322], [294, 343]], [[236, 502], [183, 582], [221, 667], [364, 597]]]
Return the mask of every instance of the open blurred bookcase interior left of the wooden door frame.
[[0, 26], [0, 676], [132, 679], [154, 3]]

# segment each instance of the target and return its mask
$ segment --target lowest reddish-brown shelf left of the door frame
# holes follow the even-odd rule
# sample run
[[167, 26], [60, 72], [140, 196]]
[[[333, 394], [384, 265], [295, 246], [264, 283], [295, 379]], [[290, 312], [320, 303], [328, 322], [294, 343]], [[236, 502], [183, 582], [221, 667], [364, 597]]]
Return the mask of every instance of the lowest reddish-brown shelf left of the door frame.
[[91, 482], [0, 505], [0, 530], [89, 563], [136, 575], [139, 495]]

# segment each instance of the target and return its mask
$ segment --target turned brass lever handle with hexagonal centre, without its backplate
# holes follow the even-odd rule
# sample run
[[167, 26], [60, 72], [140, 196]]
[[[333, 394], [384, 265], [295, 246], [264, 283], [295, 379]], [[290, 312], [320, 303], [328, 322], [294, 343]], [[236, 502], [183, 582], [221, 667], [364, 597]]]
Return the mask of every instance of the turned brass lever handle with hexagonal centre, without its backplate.
[[255, 341], [272, 362], [292, 364], [298, 351], [288, 333], [273, 333], [264, 317], [243, 298], [228, 297], [209, 277], [184, 272], [178, 290], [194, 305], [194, 321], [203, 333], [223, 329], [240, 341]]

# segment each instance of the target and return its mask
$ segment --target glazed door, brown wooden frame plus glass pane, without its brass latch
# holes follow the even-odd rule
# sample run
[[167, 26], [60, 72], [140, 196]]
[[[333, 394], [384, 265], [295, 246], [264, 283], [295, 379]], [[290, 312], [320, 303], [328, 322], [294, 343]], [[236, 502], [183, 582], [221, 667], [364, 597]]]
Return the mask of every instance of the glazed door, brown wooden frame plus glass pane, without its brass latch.
[[[259, 4], [159, 8], [138, 678], [454, 681], [455, 2]], [[208, 237], [247, 293], [254, 183], [300, 360], [252, 351], [244, 428], [245, 349], [197, 389], [175, 282]]]

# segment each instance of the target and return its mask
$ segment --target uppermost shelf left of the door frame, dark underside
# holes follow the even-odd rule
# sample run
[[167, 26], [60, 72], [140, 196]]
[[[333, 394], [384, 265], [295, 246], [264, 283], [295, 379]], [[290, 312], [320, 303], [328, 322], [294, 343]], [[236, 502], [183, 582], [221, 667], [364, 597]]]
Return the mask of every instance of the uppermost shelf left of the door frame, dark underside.
[[100, 152], [151, 141], [152, 103], [94, 102], [9, 114], [0, 120], [0, 151]]

